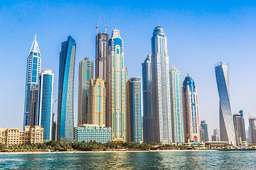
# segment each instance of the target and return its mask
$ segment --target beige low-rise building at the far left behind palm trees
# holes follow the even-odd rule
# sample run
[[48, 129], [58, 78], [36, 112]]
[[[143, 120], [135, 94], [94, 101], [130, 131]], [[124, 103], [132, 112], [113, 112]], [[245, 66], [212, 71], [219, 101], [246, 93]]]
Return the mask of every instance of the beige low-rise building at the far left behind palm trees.
[[0, 143], [4, 145], [21, 145], [43, 143], [43, 128], [39, 125], [17, 128], [0, 128]]

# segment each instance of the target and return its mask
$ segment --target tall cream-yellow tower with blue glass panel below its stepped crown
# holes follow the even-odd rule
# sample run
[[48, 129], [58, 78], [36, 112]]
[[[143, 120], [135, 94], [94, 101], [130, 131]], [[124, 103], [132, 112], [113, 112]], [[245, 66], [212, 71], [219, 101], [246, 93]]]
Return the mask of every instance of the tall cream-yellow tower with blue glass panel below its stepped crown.
[[124, 49], [119, 30], [112, 31], [108, 49], [106, 125], [112, 128], [112, 140], [125, 141]]

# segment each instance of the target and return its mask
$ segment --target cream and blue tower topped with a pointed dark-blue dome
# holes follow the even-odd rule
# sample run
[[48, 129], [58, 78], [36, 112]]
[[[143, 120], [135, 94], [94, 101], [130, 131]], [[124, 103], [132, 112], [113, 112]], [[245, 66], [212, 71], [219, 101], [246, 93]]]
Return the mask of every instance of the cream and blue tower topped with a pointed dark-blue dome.
[[185, 142], [201, 142], [196, 84], [189, 76], [183, 81]]

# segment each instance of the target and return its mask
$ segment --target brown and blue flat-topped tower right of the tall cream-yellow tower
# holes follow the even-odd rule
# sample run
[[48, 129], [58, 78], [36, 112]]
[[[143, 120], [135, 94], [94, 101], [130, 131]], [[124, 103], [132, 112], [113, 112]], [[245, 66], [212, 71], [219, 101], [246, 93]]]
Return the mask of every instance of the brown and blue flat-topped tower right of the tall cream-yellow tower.
[[142, 142], [141, 82], [139, 77], [127, 81], [127, 142]]

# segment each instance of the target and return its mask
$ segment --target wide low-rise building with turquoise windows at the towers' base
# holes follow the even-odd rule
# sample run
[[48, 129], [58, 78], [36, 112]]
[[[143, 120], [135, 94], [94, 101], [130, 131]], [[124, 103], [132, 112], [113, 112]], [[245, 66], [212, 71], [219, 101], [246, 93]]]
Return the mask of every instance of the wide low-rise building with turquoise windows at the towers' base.
[[82, 124], [75, 128], [75, 142], [111, 142], [111, 128], [105, 125]]

